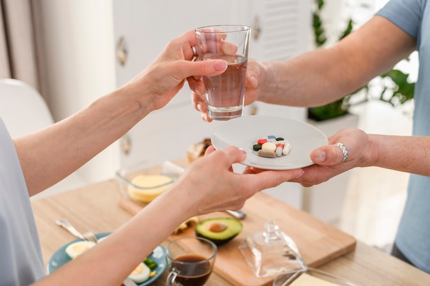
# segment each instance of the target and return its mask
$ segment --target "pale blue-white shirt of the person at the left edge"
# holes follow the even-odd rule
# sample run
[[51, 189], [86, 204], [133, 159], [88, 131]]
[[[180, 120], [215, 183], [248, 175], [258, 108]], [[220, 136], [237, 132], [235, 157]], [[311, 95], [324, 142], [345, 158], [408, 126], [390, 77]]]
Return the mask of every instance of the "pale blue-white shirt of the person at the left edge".
[[29, 285], [45, 276], [27, 186], [0, 118], [0, 285]]

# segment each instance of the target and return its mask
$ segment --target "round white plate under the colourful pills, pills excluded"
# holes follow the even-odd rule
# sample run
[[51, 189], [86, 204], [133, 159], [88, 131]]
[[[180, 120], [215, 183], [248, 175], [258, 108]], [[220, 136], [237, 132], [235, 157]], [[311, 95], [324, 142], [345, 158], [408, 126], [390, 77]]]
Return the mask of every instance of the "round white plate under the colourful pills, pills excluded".
[[[282, 157], [265, 158], [253, 151], [253, 144], [267, 135], [283, 137], [291, 144], [291, 151]], [[247, 151], [247, 166], [267, 170], [291, 170], [310, 166], [309, 154], [313, 149], [328, 144], [324, 133], [314, 126], [293, 119], [251, 115], [222, 122], [212, 133], [216, 149], [237, 146]]]

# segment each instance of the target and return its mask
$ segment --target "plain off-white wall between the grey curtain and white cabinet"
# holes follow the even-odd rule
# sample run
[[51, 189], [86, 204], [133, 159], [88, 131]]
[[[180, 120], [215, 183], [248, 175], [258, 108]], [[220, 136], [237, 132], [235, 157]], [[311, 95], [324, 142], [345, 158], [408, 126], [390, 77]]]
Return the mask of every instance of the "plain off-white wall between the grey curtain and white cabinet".
[[47, 96], [58, 121], [115, 88], [111, 1], [39, 0], [35, 5], [42, 12]]

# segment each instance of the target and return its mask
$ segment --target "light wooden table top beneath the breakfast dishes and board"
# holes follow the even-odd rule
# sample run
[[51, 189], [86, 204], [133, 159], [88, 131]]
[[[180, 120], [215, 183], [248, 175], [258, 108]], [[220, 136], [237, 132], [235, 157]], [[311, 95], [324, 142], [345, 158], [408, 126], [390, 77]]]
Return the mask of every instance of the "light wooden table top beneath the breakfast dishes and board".
[[[75, 239], [54, 221], [67, 218], [79, 230], [111, 232], [132, 217], [120, 208], [115, 179], [32, 201], [45, 265], [58, 248]], [[162, 243], [163, 245], [165, 243]], [[357, 243], [357, 248], [318, 267], [360, 285], [430, 285], [430, 275], [389, 254]], [[165, 285], [166, 272], [152, 285]], [[213, 273], [207, 286], [231, 285]]]

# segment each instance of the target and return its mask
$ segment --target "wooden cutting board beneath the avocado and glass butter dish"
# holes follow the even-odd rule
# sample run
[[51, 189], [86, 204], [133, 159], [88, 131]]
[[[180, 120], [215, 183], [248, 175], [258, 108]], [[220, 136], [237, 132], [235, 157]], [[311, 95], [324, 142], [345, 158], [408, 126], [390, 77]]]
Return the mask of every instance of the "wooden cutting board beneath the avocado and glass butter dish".
[[[125, 197], [120, 198], [120, 206], [131, 214], [142, 209], [142, 206]], [[242, 232], [218, 248], [214, 265], [214, 271], [234, 285], [272, 285], [275, 276], [256, 277], [238, 249], [249, 234], [264, 231], [267, 221], [275, 221], [280, 230], [291, 236], [310, 267], [318, 267], [355, 248], [356, 241], [352, 236], [264, 192], [258, 192], [248, 199], [243, 210], [247, 212], [247, 217], [242, 220]], [[229, 214], [214, 212], [199, 219], [210, 217], [229, 217]], [[172, 234], [168, 240], [189, 235], [194, 235], [194, 228], [188, 228], [181, 234]]]

